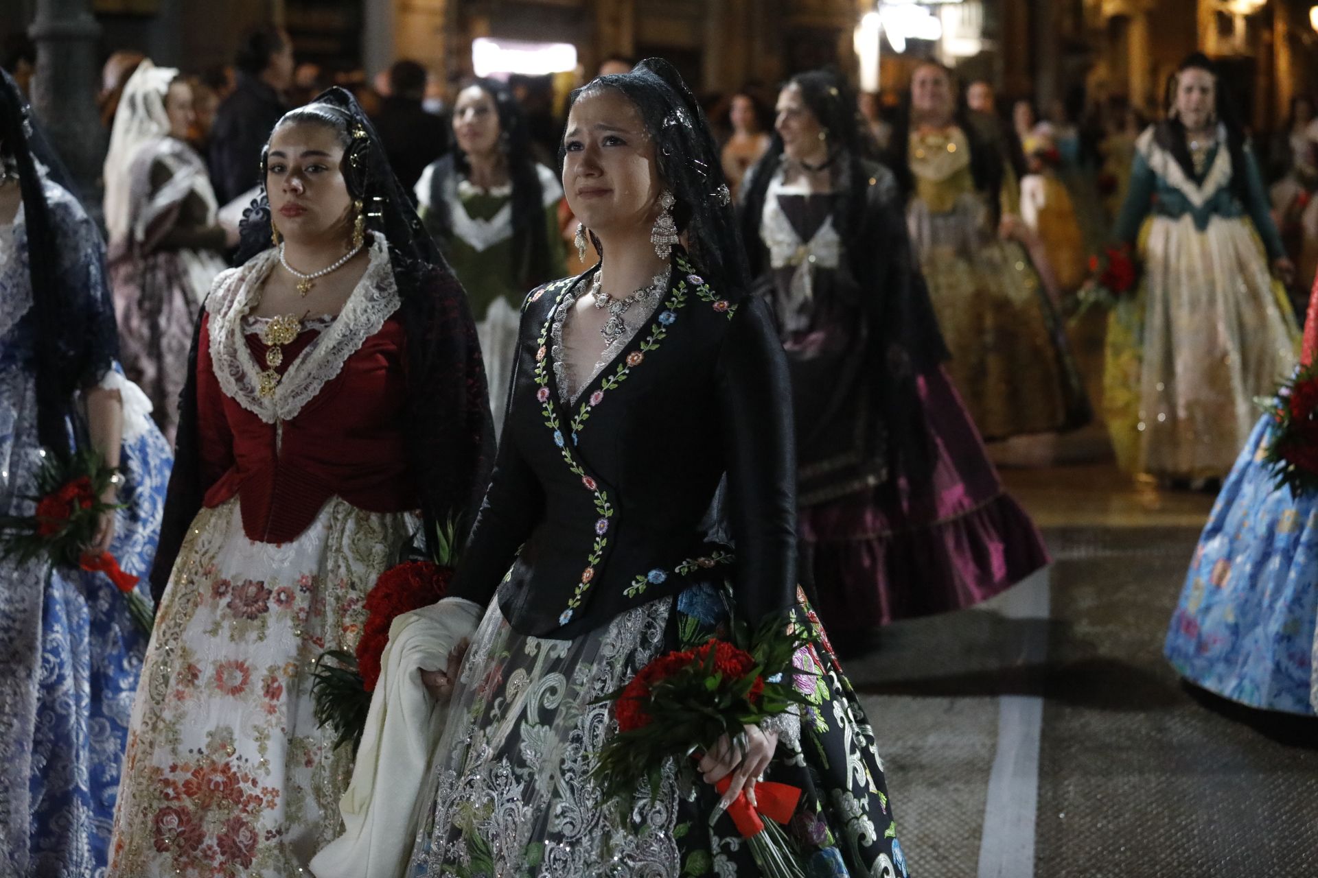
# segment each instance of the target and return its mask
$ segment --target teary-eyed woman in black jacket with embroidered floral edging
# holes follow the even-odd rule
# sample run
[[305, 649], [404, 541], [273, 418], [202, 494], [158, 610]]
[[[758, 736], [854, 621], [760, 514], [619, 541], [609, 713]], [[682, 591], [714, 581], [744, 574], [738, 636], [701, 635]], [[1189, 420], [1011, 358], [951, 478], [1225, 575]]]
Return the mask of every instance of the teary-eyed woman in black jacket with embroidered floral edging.
[[[704, 115], [666, 62], [573, 95], [563, 183], [601, 266], [523, 307], [494, 475], [436, 606], [468, 613], [471, 646], [456, 679], [423, 671], [452, 702], [419, 842], [389, 874], [758, 875], [729, 817], [709, 824], [714, 788], [679, 795], [675, 760], [626, 810], [602, 807], [590, 773], [617, 728], [600, 699], [652, 658], [730, 612], [816, 624], [796, 587], [782, 345], [746, 294]], [[801, 787], [786, 827], [801, 874], [905, 875], [858, 702], [826, 646], [796, 661], [820, 674], [797, 681], [811, 707], [750, 727], [745, 758], [716, 746], [704, 779]]]

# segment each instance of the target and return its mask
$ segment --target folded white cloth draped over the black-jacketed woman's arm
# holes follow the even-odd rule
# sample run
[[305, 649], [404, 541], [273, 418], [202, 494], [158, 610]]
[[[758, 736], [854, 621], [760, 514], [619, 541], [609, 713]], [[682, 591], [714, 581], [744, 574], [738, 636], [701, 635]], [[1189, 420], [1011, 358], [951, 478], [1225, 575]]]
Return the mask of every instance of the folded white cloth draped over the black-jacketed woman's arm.
[[418, 802], [444, 732], [420, 669], [444, 670], [448, 656], [476, 633], [484, 609], [461, 598], [403, 613], [389, 628], [380, 682], [370, 699], [352, 783], [339, 800], [345, 831], [315, 856], [316, 878], [401, 878], [416, 837]]

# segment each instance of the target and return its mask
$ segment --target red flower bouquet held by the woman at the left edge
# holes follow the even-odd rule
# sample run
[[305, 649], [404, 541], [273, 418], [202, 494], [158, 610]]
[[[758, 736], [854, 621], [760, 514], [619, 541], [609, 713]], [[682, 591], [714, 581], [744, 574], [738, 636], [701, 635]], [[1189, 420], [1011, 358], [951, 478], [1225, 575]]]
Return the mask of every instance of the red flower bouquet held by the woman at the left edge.
[[46, 557], [54, 567], [104, 573], [124, 594], [133, 624], [150, 634], [156, 611], [136, 591], [140, 578], [124, 573], [108, 552], [87, 553], [101, 516], [120, 508], [100, 499], [115, 469], [92, 450], [61, 457], [43, 449], [41, 454], [37, 494], [24, 498], [37, 508], [30, 516], [0, 516], [0, 555], [20, 563]]

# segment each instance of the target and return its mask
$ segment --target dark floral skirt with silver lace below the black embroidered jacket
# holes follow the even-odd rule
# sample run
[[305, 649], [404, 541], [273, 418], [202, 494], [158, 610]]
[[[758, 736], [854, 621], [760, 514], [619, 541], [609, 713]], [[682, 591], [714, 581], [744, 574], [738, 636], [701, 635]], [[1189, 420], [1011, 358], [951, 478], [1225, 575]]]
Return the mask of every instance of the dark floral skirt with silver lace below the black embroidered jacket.
[[[804, 603], [800, 617], [818, 628]], [[675, 762], [651, 798], [606, 803], [590, 777], [617, 724], [598, 700], [650, 659], [721, 633], [724, 591], [701, 584], [576, 640], [518, 634], [492, 604], [472, 641], [436, 750], [409, 874], [442, 878], [759, 875], [713, 787], [683, 788]], [[821, 629], [820, 629], [821, 631]], [[826, 644], [826, 641], [824, 641]], [[804, 791], [784, 827], [808, 875], [904, 878], [883, 762], [825, 645], [797, 656], [812, 706], [779, 738], [766, 778]]]

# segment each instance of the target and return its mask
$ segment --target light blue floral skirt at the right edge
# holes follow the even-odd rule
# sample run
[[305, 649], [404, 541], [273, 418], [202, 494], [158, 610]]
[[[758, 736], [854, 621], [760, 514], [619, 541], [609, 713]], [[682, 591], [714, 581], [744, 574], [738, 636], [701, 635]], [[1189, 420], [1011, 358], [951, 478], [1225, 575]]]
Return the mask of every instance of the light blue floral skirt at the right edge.
[[1273, 486], [1271, 416], [1253, 428], [1213, 507], [1166, 634], [1190, 682], [1249, 707], [1313, 715], [1318, 496]]

